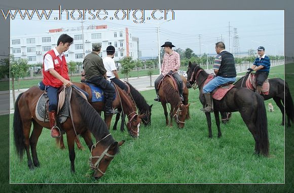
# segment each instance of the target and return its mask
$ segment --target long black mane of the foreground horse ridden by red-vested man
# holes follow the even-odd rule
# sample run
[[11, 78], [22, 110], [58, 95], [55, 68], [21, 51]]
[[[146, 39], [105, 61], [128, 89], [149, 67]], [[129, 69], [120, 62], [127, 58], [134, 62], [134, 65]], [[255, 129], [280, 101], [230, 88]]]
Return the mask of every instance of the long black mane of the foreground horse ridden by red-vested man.
[[[84, 124], [87, 126], [87, 128], [91, 131], [93, 136], [95, 137], [96, 141], [102, 139], [106, 135], [109, 134], [109, 130], [103, 121], [103, 119], [100, 117], [99, 113], [91, 106], [88, 101], [86, 101], [76, 89], [72, 89], [72, 95], [71, 97], [74, 97], [78, 102], [78, 110], [80, 112], [80, 116], [82, 120], [84, 121]], [[106, 137], [104, 140], [102, 140], [100, 143], [102, 145], [110, 145], [115, 142], [114, 138], [112, 136]], [[118, 153], [119, 147], [117, 146], [114, 150], [115, 154]]]

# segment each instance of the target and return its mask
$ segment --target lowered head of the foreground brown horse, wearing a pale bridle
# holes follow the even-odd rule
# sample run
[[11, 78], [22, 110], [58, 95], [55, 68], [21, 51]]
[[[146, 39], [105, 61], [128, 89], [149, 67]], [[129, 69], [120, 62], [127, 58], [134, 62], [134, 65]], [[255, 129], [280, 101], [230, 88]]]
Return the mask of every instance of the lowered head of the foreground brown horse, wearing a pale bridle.
[[116, 153], [118, 152], [119, 146], [125, 142], [124, 140], [120, 142], [115, 141], [110, 145], [102, 145], [98, 144], [100, 141], [92, 146], [91, 156], [89, 158], [90, 167], [92, 170], [94, 170], [93, 177], [95, 179], [99, 179], [105, 174], [108, 165], [111, 163]]

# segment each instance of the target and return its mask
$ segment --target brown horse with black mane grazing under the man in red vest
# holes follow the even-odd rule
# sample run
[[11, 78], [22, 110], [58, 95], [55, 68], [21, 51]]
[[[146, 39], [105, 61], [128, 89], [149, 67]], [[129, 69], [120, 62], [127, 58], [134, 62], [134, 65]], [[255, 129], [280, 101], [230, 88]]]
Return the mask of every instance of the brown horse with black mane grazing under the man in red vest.
[[[36, 104], [43, 93], [44, 91], [41, 91], [39, 87], [32, 87], [24, 93], [21, 93], [15, 102], [13, 131], [16, 152], [19, 158], [22, 159], [24, 150], [26, 151], [27, 163], [30, 169], [40, 167], [36, 144], [38, 143], [43, 127], [49, 129], [49, 122], [39, 121], [35, 116]], [[94, 170], [93, 177], [100, 178], [118, 152], [119, 146], [124, 141], [118, 143], [114, 140], [100, 115], [80, 96], [75, 88], [72, 88], [70, 106], [72, 113], [61, 124], [61, 128], [66, 133], [71, 172], [75, 173], [75, 137], [76, 134], [81, 134], [91, 151], [92, 156], [90, 161], [91, 168]], [[76, 128], [75, 130], [73, 129], [72, 123]], [[29, 136], [31, 124], [33, 124], [33, 130]], [[91, 135], [89, 135], [90, 133], [88, 131], [98, 141], [95, 145], [93, 145]], [[29, 147], [31, 148], [32, 160]], [[100, 159], [98, 160], [99, 157]], [[100, 162], [102, 158], [103, 161]]]

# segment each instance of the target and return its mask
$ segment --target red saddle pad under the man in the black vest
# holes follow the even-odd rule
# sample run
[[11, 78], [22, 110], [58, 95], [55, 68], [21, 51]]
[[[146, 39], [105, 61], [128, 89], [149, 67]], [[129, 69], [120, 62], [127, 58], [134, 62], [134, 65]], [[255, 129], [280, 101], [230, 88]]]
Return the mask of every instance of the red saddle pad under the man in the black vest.
[[[209, 74], [206, 81], [204, 82], [204, 86], [214, 78], [213, 74]], [[235, 85], [234, 82], [225, 83], [223, 85], [218, 86], [211, 92], [211, 96], [215, 100], [222, 100], [224, 96], [227, 94], [229, 90], [231, 90]]]

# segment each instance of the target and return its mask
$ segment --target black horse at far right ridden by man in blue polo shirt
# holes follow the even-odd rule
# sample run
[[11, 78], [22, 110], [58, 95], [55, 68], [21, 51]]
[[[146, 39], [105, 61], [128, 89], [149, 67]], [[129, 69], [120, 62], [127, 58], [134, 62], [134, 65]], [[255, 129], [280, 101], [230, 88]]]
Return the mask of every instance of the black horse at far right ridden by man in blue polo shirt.
[[[246, 81], [248, 79], [248, 75], [249, 73], [247, 73], [245, 76], [239, 79], [234, 85], [237, 87], [246, 88]], [[264, 97], [264, 100], [273, 98], [274, 101], [276, 102], [277, 106], [279, 107], [282, 113], [281, 125], [284, 125], [285, 123], [284, 110], [286, 111], [287, 122], [288, 122], [287, 127], [291, 127], [291, 122], [292, 123], [294, 122], [294, 105], [293, 105], [293, 100], [290, 94], [289, 86], [284, 80], [280, 78], [269, 79], [269, 83], [270, 83], [269, 94], [262, 95], [262, 96]]]

